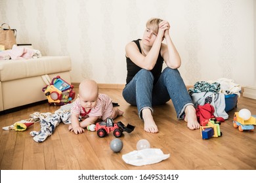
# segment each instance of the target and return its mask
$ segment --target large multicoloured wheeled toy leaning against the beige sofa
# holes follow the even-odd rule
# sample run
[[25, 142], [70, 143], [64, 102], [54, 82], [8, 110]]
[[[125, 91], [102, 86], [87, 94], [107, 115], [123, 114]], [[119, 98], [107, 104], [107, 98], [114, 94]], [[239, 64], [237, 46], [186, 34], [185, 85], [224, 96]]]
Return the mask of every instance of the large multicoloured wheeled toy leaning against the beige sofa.
[[71, 103], [75, 98], [74, 86], [68, 84], [65, 80], [56, 76], [51, 84], [45, 86], [42, 91], [48, 99], [49, 104], [65, 105]]

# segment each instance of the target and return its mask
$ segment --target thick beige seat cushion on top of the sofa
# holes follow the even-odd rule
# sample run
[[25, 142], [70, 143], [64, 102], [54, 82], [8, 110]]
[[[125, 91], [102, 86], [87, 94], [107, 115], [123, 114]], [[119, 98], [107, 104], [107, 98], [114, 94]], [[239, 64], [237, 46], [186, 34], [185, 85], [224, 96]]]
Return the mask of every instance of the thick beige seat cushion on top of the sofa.
[[0, 60], [0, 81], [71, 71], [68, 56], [43, 56], [35, 59]]

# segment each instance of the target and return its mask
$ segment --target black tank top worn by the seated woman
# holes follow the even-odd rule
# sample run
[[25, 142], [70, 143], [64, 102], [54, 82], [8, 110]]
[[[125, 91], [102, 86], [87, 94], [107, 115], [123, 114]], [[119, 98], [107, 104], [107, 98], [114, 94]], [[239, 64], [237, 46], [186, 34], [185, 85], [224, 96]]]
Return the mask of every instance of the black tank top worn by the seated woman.
[[[137, 39], [133, 42], [135, 42], [140, 50], [140, 53], [142, 53], [141, 48], [140, 48], [140, 41], [141, 39]], [[133, 77], [140, 71], [140, 69], [142, 69], [141, 67], [139, 67], [138, 65], [136, 65], [135, 63], [133, 63], [133, 61], [131, 61], [130, 58], [126, 58], [126, 64], [127, 64], [127, 78], [126, 78], [126, 84], [128, 84]], [[151, 70], [151, 73], [154, 76], [154, 84], [156, 84], [156, 82], [158, 81], [158, 78], [161, 75], [161, 69], [163, 68], [163, 58], [161, 57], [161, 54], [159, 52], [158, 55], [158, 60], [156, 61], [156, 65], [154, 66], [154, 68]]]

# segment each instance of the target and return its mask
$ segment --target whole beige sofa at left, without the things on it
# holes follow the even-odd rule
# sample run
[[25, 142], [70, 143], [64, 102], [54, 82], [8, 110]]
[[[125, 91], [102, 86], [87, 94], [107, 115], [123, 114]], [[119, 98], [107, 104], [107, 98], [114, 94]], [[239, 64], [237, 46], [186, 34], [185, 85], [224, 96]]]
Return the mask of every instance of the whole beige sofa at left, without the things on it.
[[41, 76], [60, 76], [70, 83], [71, 69], [68, 56], [0, 60], [0, 112], [46, 100]]

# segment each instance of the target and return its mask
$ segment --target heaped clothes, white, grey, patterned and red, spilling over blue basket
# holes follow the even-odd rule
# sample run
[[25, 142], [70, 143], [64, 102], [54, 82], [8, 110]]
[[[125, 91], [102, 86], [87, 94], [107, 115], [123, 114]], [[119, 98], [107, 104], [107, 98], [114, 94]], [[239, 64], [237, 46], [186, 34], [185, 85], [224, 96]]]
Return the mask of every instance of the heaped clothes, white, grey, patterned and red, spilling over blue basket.
[[240, 96], [241, 86], [234, 83], [234, 80], [220, 78], [218, 80], [200, 81], [189, 88], [188, 93], [196, 107], [198, 122], [217, 118], [218, 121], [228, 119], [225, 111], [225, 95], [236, 94]]

